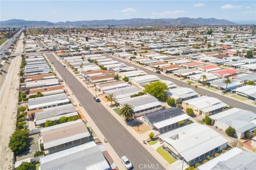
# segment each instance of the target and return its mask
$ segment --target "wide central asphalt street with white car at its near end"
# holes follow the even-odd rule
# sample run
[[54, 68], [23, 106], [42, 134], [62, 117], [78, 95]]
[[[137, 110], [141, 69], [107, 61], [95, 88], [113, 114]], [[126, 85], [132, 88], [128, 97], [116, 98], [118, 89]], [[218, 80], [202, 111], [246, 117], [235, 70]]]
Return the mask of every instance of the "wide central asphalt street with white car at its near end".
[[[52, 54], [45, 55], [53, 61], [55, 69], [61, 77], [66, 80], [73, 94], [85, 108], [99, 130], [105, 136], [111, 147], [121, 158], [127, 156], [132, 162], [134, 169], [140, 169], [142, 164], [155, 167], [155, 169], [164, 169], [159, 162], [128, 132], [116, 118], [111, 115], [105, 107], [93, 99], [93, 95], [71, 74]], [[148, 168], [150, 169], [150, 168]]]

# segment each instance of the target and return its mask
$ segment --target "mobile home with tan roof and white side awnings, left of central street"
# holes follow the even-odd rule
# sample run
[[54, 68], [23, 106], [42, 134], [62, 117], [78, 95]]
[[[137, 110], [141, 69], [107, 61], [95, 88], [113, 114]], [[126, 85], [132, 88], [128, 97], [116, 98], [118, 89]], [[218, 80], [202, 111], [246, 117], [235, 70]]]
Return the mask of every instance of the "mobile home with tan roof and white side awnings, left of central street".
[[41, 136], [41, 143], [49, 154], [90, 140], [90, 133], [81, 119], [43, 128]]

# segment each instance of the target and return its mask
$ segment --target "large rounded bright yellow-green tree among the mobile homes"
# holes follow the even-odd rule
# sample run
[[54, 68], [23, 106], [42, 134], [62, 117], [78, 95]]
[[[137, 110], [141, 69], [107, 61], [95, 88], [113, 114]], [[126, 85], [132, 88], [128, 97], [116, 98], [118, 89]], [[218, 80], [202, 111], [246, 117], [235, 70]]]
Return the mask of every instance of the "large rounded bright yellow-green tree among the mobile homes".
[[166, 100], [166, 91], [168, 87], [166, 83], [161, 81], [150, 82], [145, 86], [145, 92], [149, 95], [156, 97], [158, 100], [165, 101]]

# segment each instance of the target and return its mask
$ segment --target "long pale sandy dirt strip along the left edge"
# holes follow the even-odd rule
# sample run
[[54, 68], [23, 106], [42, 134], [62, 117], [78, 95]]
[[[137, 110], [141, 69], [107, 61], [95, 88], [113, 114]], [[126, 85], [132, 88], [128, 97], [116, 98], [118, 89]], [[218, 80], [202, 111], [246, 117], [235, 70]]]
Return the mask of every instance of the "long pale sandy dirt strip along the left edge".
[[[23, 33], [21, 35], [23, 38]], [[19, 40], [15, 53], [23, 52], [22, 39]], [[17, 115], [18, 104], [18, 88], [19, 88], [19, 66], [21, 63], [21, 56], [17, 56], [12, 61], [9, 68], [9, 75], [6, 76], [6, 80], [3, 83], [0, 93], [0, 169], [12, 169], [13, 153], [8, 147], [9, 137], [15, 129], [15, 120]]]

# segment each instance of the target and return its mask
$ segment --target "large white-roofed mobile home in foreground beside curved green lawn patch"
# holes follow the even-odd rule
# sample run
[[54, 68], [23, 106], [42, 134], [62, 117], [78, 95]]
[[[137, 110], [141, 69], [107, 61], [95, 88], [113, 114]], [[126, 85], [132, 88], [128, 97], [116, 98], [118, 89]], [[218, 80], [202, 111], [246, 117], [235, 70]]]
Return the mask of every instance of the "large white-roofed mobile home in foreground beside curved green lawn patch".
[[228, 141], [218, 132], [199, 124], [191, 123], [159, 135], [163, 144], [189, 166], [204, 160], [207, 155], [225, 149]]

